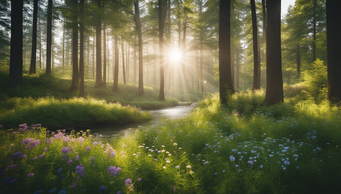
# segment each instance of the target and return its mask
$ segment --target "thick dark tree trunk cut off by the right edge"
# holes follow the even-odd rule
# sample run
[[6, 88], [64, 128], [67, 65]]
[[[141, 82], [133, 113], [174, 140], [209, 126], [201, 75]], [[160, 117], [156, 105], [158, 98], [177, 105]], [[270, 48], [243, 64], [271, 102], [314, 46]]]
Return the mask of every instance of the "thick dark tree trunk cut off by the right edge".
[[327, 100], [332, 103], [341, 101], [341, 12], [339, 5], [338, 1], [326, 0]]

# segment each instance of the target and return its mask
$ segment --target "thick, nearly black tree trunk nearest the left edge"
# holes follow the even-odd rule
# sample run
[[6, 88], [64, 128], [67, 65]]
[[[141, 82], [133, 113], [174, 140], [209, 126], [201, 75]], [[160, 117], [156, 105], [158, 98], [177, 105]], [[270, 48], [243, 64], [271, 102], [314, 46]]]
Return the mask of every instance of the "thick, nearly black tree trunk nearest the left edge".
[[23, 81], [23, 7], [24, 0], [11, 1], [10, 86]]

